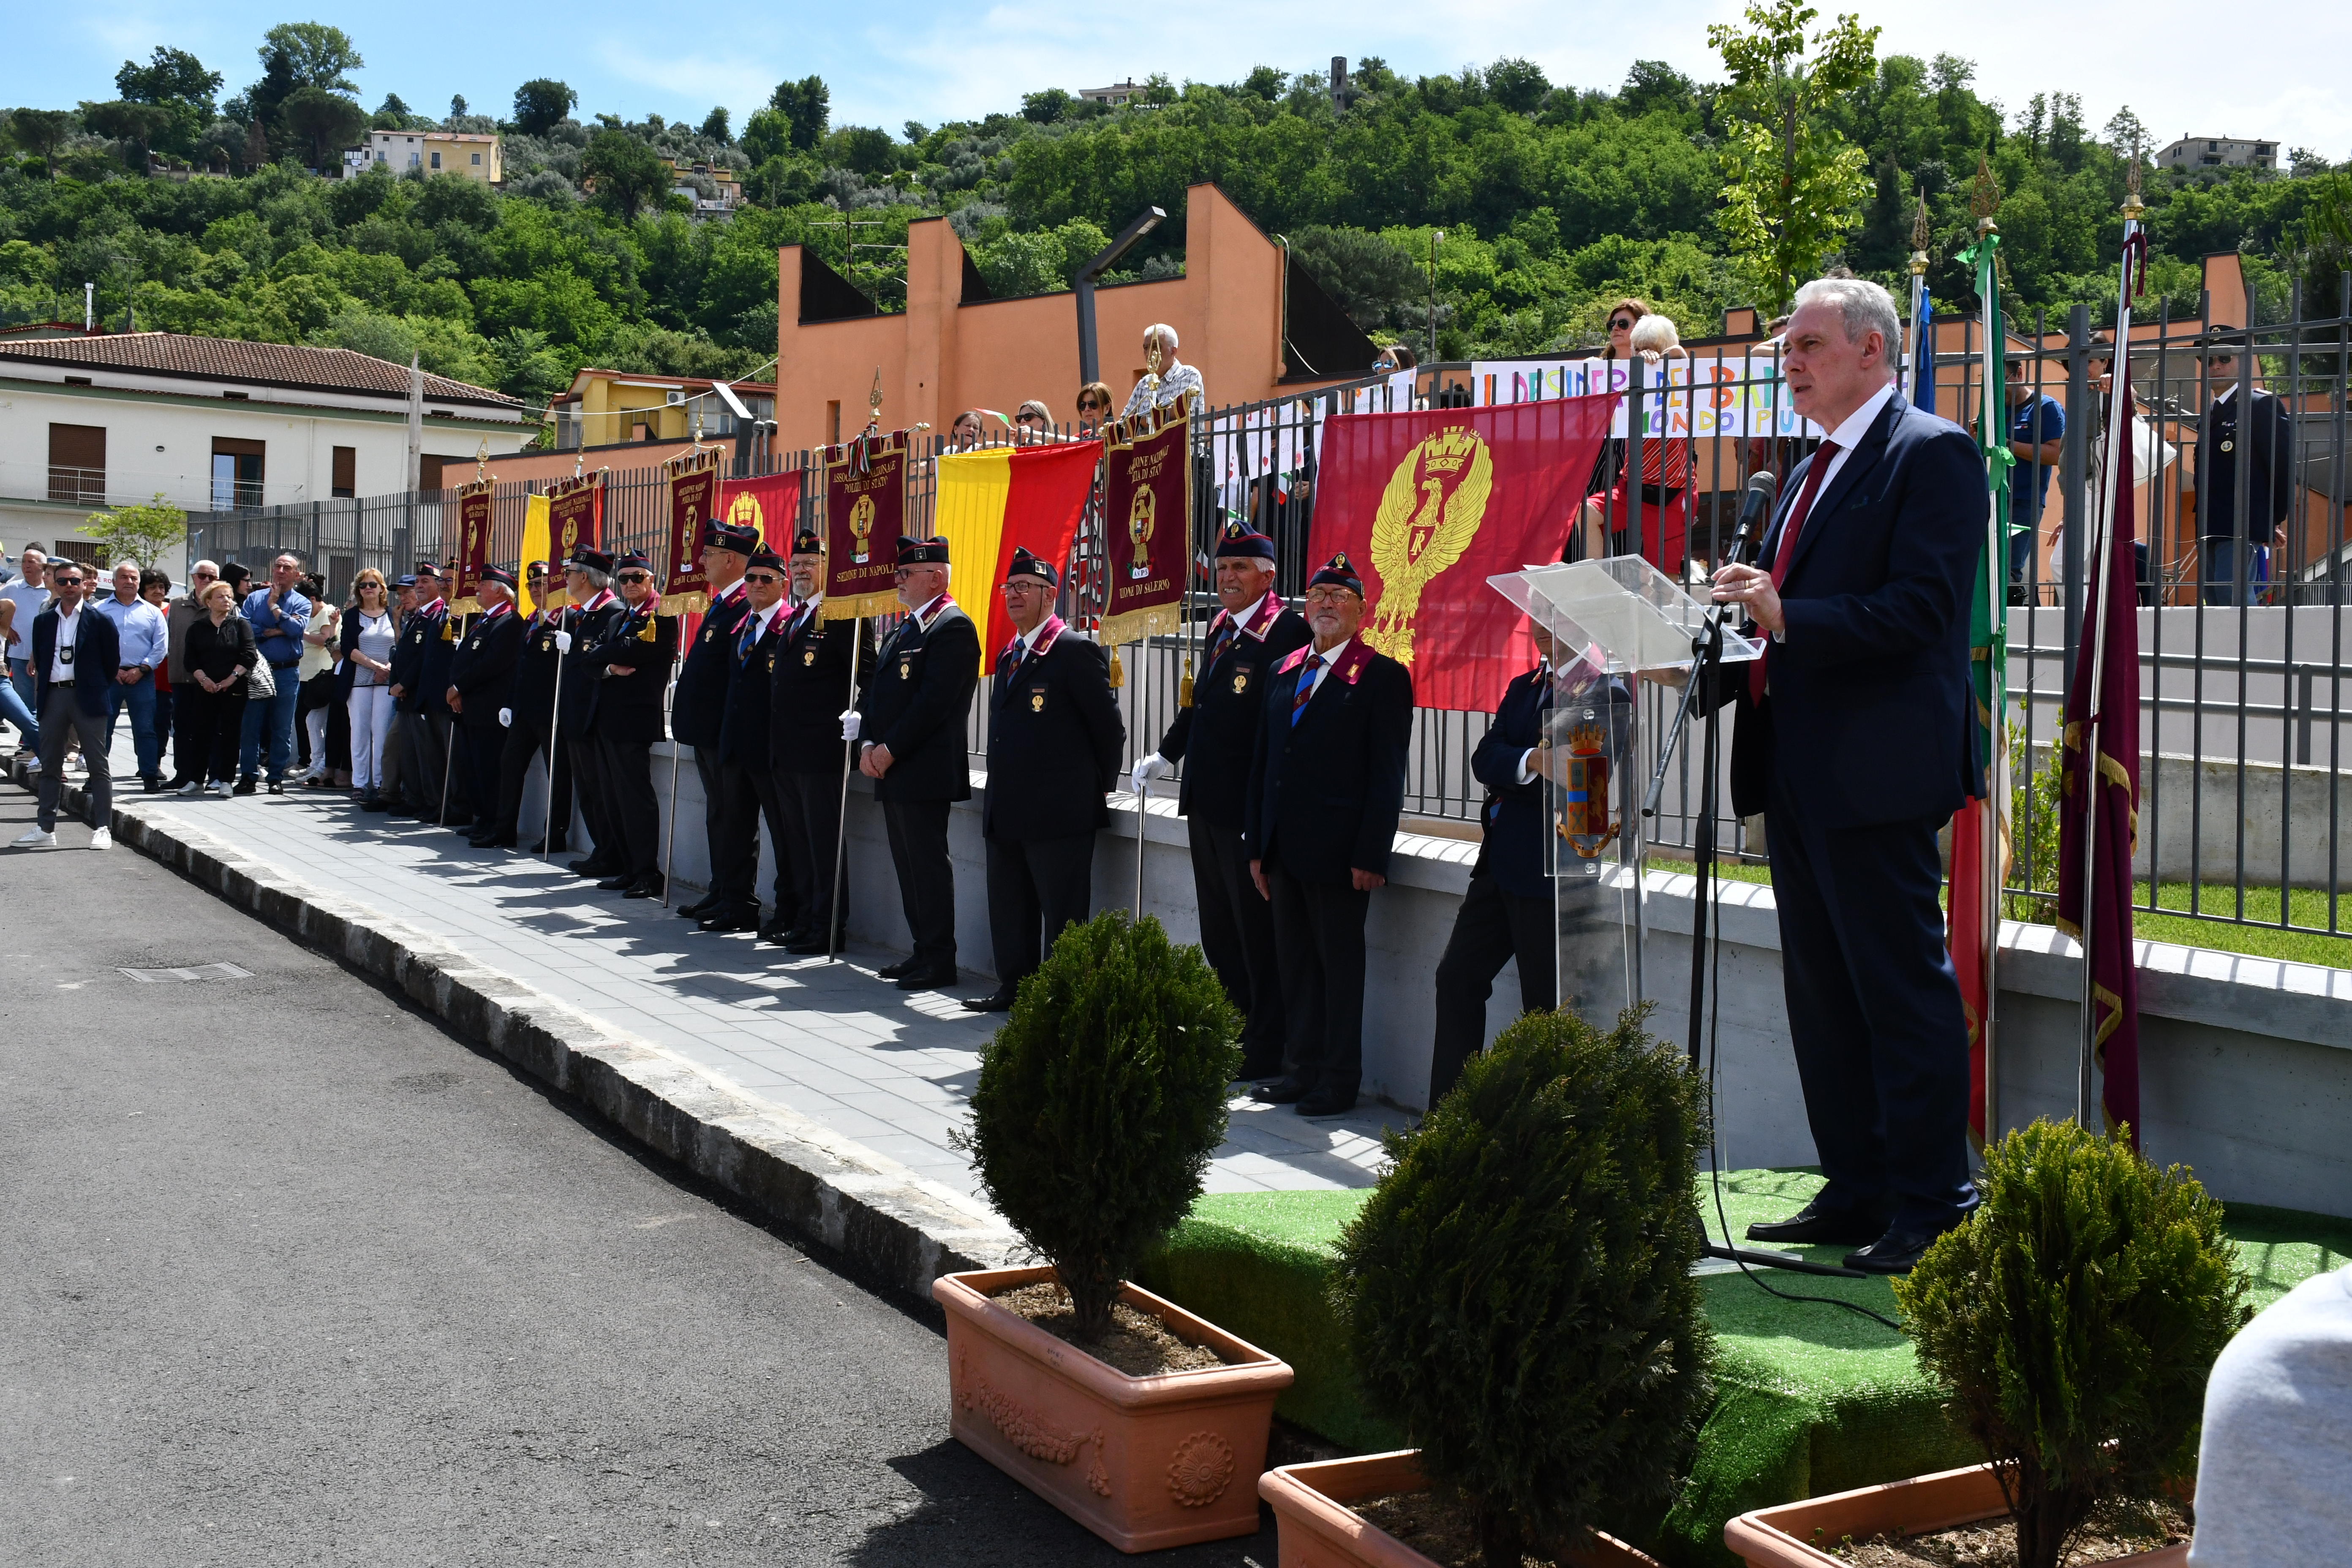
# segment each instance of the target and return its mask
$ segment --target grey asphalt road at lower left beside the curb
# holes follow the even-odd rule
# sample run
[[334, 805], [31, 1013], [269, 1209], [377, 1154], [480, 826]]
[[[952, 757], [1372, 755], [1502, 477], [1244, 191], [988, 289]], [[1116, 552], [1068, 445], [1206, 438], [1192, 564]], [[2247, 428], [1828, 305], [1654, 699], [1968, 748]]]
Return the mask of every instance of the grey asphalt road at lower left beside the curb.
[[1127, 1561], [948, 1439], [931, 1321], [59, 842], [0, 849], [0, 1563]]

